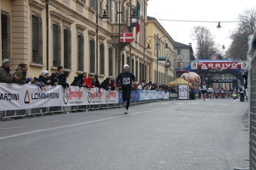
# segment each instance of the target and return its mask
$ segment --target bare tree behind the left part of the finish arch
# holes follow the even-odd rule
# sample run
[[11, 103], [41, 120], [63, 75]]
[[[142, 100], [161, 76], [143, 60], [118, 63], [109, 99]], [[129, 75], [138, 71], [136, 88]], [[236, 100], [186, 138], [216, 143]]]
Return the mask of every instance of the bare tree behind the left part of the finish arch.
[[196, 41], [196, 58], [209, 59], [217, 52], [214, 37], [207, 27], [195, 26], [192, 29], [192, 40]]

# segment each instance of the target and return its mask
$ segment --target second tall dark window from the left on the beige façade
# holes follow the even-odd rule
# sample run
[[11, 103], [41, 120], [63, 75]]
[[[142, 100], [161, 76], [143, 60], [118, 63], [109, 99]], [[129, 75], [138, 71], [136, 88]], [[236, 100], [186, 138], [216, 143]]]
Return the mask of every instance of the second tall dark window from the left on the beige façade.
[[42, 19], [37, 15], [32, 15], [32, 61], [42, 63]]

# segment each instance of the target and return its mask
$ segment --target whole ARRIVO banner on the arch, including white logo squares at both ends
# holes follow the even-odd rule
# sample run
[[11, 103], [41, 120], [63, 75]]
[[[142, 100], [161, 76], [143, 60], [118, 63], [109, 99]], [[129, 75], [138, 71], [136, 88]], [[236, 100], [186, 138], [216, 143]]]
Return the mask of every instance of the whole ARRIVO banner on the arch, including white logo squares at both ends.
[[198, 69], [198, 70], [247, 69], [247, 62], [235, 62], [235, 61], [192, 62], [191, 69]]

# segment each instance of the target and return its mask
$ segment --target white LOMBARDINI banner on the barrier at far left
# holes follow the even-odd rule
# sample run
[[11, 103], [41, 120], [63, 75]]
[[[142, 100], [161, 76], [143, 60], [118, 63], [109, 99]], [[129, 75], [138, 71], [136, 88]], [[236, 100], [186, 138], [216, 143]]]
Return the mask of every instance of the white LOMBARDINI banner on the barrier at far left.
[[60, 105], [62, 86], [46, 86], [46, 90], [35, 84], [0, 84], [0, 110], [19, 110]]

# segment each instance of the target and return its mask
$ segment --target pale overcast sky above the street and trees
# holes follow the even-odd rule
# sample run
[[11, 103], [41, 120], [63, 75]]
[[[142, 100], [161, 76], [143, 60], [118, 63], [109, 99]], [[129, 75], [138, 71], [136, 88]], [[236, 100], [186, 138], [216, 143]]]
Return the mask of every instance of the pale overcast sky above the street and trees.
[[[230, 30], [234, 29], [239, 13], [256, 7], [256, 1], [252, 0], [196, 0], [196, 1], [171, 1], [171, 0], [150, 0], [148, 1], [148, 16], [157, 19], [168, 20], [189, 20], [189, 21], [213, 21], [213, 22], [178, 22], [158, 20], [166, 29], [167, 33], [176, 42], [192, 43], [194, 52], [196, 44], [192, 41], [191, 31], [194, 26], [205, 26], [215, 36], [219, 49], [225, 45], [229, 47]], [[221, 30], [217, 30], [218, 22], [221, 22]]]

